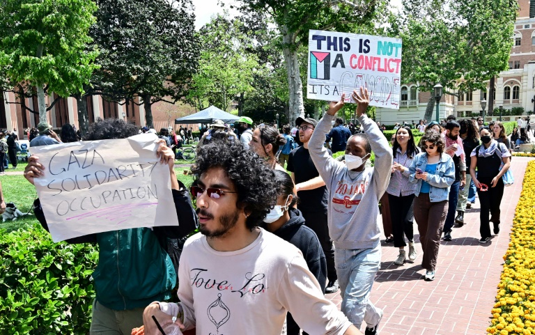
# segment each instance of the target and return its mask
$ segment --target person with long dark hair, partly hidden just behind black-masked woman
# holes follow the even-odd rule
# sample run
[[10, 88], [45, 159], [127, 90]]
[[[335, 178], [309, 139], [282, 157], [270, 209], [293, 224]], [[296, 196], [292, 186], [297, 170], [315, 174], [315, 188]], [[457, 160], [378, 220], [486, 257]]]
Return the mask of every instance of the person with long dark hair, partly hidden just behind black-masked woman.
[[472, 120], [463, 119], [459, 120], [460, 125], [460, 138], [463, 139], [463, 149], [465, 150], [465, 159], [466, 166], [469, 170], [466, 173], [466, 184], [465, 187], [461, 188], [459, 191], [459, 198], [457, 201], [457, 217], [455, 221], [458, 225], [463, 226], [465, 224], [465, 212], [467, 208], [471, 208], [472, 204], [468, 200], [470, 196], [470, 189], [475, 189], [476, 186], [472, 181], [472, 176], [470, 175], [470, 154], [476, 146], [479, 146], [479, 130], [476, 127], [475, 123]]

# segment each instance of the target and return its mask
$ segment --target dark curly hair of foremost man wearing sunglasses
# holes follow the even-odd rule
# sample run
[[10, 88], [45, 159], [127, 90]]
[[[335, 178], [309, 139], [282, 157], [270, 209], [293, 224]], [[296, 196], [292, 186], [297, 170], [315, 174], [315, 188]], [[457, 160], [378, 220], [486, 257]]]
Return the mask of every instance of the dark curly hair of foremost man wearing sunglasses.
[[238, 192], [236, 205], [250, 213], [246, 225], [252, 230], [277, 204], [278, 189], [273, 170], [240, 141], [228, 139], [212, 141], [199, 149], [196, 164], [192, 166], [195, 181], [208, 169], [217, 166], [224, 169], [234, 183]]

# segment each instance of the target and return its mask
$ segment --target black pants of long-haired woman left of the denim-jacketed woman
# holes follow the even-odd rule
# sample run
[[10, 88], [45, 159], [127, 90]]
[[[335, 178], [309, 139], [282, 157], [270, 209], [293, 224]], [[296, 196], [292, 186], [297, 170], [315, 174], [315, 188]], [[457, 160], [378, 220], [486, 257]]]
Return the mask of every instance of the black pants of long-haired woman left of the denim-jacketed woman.
[[392, 220], [392, 233], [394, 235], [394, 247], [405, 247], [405, 237], [409, 242], [414, 241], [414, 230], [412, 221], [414, 220], [413, 203], [414, 194], [408, 196], [393, 196], [388, 194], [390, 205], [390, 217]]

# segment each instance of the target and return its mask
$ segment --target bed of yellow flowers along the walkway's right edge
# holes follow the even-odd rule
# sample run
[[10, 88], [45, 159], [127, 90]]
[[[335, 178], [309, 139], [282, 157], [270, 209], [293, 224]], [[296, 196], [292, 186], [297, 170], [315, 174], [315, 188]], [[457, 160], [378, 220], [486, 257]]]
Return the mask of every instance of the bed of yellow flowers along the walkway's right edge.
[[535, 334], [535, 161], [527, 165], [488, 334]]

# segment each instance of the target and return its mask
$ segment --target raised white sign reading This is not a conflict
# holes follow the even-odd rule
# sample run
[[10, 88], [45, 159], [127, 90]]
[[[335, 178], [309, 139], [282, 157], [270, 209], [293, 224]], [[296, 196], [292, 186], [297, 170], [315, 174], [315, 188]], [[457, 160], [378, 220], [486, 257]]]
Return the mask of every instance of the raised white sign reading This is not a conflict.
[[399, 108], [401, 38], [309, 31], [307, 98], [355, 102], [351, 93], [368, 88], [370, 105]]

